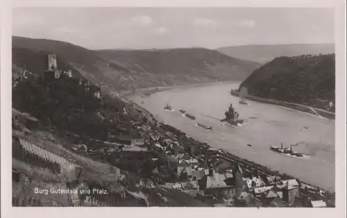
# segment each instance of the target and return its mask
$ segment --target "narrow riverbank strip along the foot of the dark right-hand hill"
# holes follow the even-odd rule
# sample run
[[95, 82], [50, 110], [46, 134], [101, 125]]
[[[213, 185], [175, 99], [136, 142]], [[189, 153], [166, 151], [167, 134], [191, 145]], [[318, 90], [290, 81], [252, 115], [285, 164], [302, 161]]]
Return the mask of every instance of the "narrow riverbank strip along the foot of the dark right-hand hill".
[[[239, 92], [237, 90], [231, 90], [230, 94], [232, 94], [232, 96], [239, 97]], [[307, 113], [310, 113], [312, 115], [316, 115], [319, 117], [325, 117], [327, 119], [335, 120], [335, 113], [334, 112], [322, 110], [319, 108], [312, 108], [310, 106], [304, 106], [304, 105], [301, 105], [298, 103], [290, 103], [290, 102], [278, 101], [278, 100], [274, 100], [274, 99], [263, 99], [263, 98], [255, 97], [252, 95], [246, 95], [244, 97], [244, 99], [248, 99], [251, 101], [257, 101], [257, 102], [261, 102], [261, 103], [270, 103], [270, 104], [273, 104], [276, 106], [291, 108], [291, 109], [298, 110], [301, 112], [307, 112]]]

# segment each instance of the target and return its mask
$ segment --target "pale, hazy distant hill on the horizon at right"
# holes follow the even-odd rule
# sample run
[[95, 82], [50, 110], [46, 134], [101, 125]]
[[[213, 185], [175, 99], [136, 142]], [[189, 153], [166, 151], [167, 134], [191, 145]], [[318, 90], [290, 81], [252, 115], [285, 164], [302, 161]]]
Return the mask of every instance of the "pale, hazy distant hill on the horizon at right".
[[266, 63], [281, 56], [335, 53], [335, 44], [262, 44], [221, 47], [217, 51], [234, 58]]

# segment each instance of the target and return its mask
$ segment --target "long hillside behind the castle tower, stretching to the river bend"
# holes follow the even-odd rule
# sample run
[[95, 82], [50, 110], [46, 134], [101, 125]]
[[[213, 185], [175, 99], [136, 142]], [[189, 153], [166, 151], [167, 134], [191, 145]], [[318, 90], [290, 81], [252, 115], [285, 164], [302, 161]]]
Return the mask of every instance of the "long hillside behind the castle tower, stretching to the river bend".
[[[40, 55], [55, 53], [63, 65], [113, 90], [131, 87], [187, 85], [219, 81], [242, 81], [256, 62], [239, 60], [209, 49], [103, 50], [92, 51], [67, 42], [12, 37], [13, 63], [29, 71], [43, 71]], [[58, 67], [59, 67], [58, 62]]]

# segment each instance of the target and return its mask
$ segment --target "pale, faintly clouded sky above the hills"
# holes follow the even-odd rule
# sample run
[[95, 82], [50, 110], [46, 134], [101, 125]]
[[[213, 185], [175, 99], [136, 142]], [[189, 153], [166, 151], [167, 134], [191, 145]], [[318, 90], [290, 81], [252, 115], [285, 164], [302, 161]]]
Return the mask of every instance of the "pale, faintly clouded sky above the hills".
[[331, 8], [15, 8], [12, 35], [87, 49], [335, 41]]

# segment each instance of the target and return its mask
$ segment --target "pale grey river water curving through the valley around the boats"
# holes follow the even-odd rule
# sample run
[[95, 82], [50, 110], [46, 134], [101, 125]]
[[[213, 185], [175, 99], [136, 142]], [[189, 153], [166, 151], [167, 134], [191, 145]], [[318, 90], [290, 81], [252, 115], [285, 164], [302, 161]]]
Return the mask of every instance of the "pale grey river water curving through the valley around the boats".
[[[239, 98], [230, 95], [230, 90], [238, 86], [239, 83], [216, 83], [181, 87], [151, 97], [129, 96], [127, 99], [157, 115], [164, 123], [196, 140], [208, 142], [214, 148], [225, 149], [241, 158], [335, 191], [335, 121], [255, 101], [247, 100], [249, 106], [239, 104]], [[167, 103], [175, 111], [165, 111]], [[239, 112], [239, 118], [247, 119], [250, 124], [232, 128], [214, 119], [224, 118], [230, 103]], [[183, 117], [179, 112], [181, 109], [194, 115], [196, 120]], [[213, 130], [200, 128], [196, 126], [197, 122], [212, 126]], [[282, 156], [269, 149], [270, 146], [280, 146], [281, 142], [284, 146], [301, 142], [293, 147], [294, 151], [310, 158]]]

